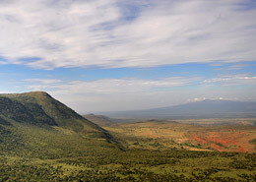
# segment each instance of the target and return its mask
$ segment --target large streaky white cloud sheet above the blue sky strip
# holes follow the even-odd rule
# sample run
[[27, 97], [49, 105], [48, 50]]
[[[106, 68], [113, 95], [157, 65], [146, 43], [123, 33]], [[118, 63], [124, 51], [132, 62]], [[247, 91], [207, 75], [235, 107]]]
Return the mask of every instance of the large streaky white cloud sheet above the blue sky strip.
[[256, 10], [239, 10], [244, 0], [143, 2], [132, 21], [117, 2], [0, 2], [0, 55], [42, 69], [255, 59]]

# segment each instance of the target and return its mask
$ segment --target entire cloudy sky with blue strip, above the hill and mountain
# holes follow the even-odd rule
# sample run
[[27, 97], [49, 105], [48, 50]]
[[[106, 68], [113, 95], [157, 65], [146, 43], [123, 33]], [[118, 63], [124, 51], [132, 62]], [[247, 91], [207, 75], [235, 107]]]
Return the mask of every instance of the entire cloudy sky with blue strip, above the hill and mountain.
[[255, 0], [0, 0], [0, 92], [80, 113], [256, 101]]

